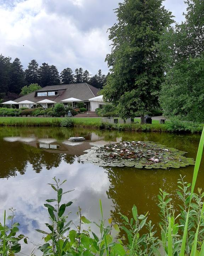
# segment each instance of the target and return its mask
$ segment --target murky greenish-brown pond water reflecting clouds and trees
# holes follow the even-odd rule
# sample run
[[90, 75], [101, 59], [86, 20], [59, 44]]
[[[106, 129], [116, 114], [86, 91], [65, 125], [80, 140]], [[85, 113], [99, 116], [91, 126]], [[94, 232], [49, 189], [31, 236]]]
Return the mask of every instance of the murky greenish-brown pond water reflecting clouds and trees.
[[[85, 136], [80, 143], [71, 143], [69, 137]], [[48, 221], [44, 207], [54, 192], [47, 183], [56, 176], [66, 179], [64, 190], [75, 189], [63, 198], [74, 201], [69, 210], [70, 219], [77, 223], [78, 207], [83, 215], [97, 221], [100, 218], [99, 199], [102, 199], [106, 219], [110, 216], [120, 222], [118, 212], [130, 216], [135, 204], [138, 213], [149, 211], [153, 223], [159, 220], [157, 194], [159, 188], [171, 194], [174, 203], [179, 175], [191, 182], [194, 166], [179, 169], [136, 169], [134, 167], [100, 167], [81, 163], [78, 158], [93, 146], [123, 140], [152, 141], [167, 147], [187, 151], [185, 155], [196, 158], [200, 135], [168, 133], [135, 133], [104, 130], [67, 128], [0, 128], [0, 218], [4, 209], [16, 209], [20, 232], [27, 235], [29, 245], [22, 252], [40, 243], [41, 235], [35, 229], [45, 229]], [[197, 179], [197, 187], [204, 187], [204, 162]], [[28, 249], [29, 248], [29, 249]]]

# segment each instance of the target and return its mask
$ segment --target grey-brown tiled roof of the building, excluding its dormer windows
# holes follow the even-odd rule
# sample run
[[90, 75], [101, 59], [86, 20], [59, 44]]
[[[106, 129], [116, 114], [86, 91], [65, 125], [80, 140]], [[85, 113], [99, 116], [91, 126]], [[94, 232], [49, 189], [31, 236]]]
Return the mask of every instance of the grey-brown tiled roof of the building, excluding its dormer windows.
[[[37, 91], [53, 91], [53, 90], [56, 90], [56, 91], [59, 90], [57, 96], [36, 97]], [[20, 102], [23, 100], [29, 100], [33, 102], [38, 102], [41, 100], [49, 99], [52, 101], [61, 102], [62, 100], [65, 100], [66, 98], [71, 98], [71, 97], [78, 98], [79, 100], [82, 100], [82, 101], [88, 101], [90, 98], [97, 96], [99, 89], [87, 83], [81, 83], [81, 84], [46, 86], [37, 91], [24, 95], [20, 98], [17, 98], [15, 101]]]

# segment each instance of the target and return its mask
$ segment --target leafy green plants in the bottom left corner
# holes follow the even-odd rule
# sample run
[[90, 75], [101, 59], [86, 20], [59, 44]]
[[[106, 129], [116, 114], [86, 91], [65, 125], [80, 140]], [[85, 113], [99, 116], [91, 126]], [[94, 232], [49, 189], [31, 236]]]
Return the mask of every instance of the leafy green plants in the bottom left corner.
[[8, 220], [11, 223], [10, 227], [6, 225], [6, 211], [4, 212], [4, 223], [0, 223], [0, 256], [15, 255], [21, 251], [20, 241], [23, 239], [27, 244], [27, 237], [16, 233], [19, 231], [18, 222], [13, 222], [15, 217], [15, 210], [11, 208], [12, 215], [8, 216]]

